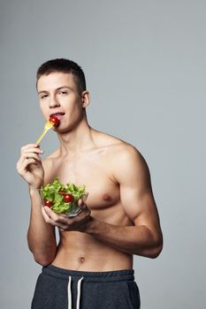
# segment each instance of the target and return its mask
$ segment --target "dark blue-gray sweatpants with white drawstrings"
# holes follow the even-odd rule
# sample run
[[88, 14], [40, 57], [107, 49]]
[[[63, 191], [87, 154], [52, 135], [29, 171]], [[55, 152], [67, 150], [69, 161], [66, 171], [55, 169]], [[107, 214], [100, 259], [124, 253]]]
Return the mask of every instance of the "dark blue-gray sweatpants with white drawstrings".
[[134, 270], [87, 272], [42, 268], [32, 309], [140, 309]]

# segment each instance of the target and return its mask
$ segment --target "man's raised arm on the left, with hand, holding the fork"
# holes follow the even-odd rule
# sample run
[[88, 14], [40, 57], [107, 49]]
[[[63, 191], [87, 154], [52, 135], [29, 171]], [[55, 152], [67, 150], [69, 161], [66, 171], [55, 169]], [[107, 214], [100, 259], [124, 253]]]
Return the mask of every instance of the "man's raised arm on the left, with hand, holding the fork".
[[54, 260], [57, 244], [55, 230], [42, 218], [42, 200], [39, 188], [43, 185], [44, 169], [40, 155], [43, 151], [37, 144], [21, 147], [17, 170], [29, 186], [31, 198], [31, 217], [27, 232], [28, 246], [34, 254], [34, 260], [41, 265], [50, 264]]

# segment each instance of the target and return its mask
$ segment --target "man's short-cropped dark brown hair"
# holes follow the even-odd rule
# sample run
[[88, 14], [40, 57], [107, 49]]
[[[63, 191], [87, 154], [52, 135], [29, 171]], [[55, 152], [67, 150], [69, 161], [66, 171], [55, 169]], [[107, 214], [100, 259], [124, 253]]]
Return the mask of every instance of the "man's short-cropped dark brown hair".
[[77, 85], [78, 91], [81, 94], [86, 90], [86, 79], [84, 72], [79, 64], [65, 58], [52, 59], [42, 64], [36, 73], [36, 83], [42, 75], [49, 75], [52, 72], [71, 73]]

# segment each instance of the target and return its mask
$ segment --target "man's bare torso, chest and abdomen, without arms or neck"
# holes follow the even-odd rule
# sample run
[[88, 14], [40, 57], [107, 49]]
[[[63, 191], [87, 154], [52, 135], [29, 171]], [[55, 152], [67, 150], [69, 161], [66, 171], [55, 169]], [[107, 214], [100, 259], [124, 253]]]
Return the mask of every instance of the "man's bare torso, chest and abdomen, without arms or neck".
[[[133, 225], [121, 205], [119, 185], [112, 169], [124, 142], [95, 132], [95, 147], [80, 154], [61, 155], [57, 150], [45, 161], [45, 184], [59, 177], [63, 184], [86, 185], [91, 215], [118, 226]], [[121, 167], [119, 167], [121, 168]], [[91, 235], [77, 231], [60, 232], [57, 255], [52, 262], [59, 268], [111, 271], [133, 267], [133, 257], [104, 245]]]

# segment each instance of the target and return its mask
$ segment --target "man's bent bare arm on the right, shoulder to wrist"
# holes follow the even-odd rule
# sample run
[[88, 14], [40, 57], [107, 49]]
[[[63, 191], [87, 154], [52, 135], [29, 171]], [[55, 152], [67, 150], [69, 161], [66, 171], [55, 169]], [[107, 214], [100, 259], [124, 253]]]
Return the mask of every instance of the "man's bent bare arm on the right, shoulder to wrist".
[[122, 206], [134, 226], [114, 226], [91, 218], [85, 232], [120, 251], [156, 258], [163, 236], [147, 163], [129, 146], [113, 164]]

